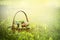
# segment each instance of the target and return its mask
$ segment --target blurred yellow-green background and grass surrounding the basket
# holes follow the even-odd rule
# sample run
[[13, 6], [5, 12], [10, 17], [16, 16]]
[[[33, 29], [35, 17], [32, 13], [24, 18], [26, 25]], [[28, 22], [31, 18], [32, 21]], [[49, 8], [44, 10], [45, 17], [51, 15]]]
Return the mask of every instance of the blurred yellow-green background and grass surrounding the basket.
[[[30, 32], [12, 33], [14, 14], [27, 13]], [[25, 20], [17, 14], [15, 20]], [[0, 40], [60, 40], [60, 0], [0, 0]]]

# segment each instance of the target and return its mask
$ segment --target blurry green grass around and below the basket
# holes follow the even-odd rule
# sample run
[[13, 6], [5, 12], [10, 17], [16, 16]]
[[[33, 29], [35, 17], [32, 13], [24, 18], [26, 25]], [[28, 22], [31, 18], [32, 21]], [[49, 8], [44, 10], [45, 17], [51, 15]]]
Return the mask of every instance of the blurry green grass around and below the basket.
[[[60, 40], [59, 29], [52, 29], [47, 27], [45, 29], [43, 26], [30, 24], [30, 32], [22, 31], [13, 33], [9, 30], [9, 22], [0, 22], [0, 40]], [[58, 30], [58, 31], [57, 31]]]

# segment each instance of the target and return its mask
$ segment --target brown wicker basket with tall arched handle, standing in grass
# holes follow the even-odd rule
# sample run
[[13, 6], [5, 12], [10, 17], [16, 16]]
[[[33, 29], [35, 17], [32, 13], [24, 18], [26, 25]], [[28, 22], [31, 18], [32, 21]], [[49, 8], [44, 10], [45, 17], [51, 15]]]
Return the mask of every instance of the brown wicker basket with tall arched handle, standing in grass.
[[[22, 28], [19, 28], [19, 27], [18, 27], [18, 26], [19, 26], [19, 23], [17, 24], [17, 28], [15, 28], [15, 26], [14, 26], [14, 25], [15, 25], [15, 16], [16, 16], [17, 13], [19, 13], [19, 12], [22, 12], [22, 13], [25, 15], [26, 21], [27, 21], [27, 23], [29, 23], [27, 14], [26, 14], [24, 11], [20, 10], [20, 11], [16, 12], [16, 14], [15, 14], [14, 17], [13, 17], [12, 28], [11, 28], [12, 31], [13, 31], [13, 32], [15, 32], [16, 30], [17, 30], [18, 32], [21, 32], [21, 31], [23, 31], [23, 30], [29, 31], [30, 28], [27, 27], [27, 26], [29, 26], [29, 24], [26, 25], [26, 24], [24, 24], [24, 22], [21, 23]], [[23, 24], [24, 24], [24, 25], [23, 25]]]

